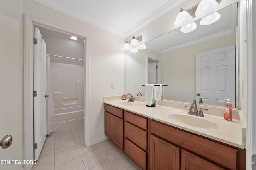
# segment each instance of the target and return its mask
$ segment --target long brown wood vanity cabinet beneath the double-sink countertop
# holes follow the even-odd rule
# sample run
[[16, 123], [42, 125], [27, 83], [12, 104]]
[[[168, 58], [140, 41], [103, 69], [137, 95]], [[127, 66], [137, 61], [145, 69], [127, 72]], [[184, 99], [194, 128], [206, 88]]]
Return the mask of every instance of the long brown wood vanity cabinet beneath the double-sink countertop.
[[246, 150], [105, 104], [105, 134], [143, 170], [245, 170]]

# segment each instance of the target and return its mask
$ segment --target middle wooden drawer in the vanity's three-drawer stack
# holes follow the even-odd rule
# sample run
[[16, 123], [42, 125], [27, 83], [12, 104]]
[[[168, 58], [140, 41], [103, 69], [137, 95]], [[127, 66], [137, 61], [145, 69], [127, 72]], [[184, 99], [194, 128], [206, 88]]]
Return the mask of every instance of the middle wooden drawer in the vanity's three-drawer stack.
[[125, 122], [125, 137], [130, 139], [136, 145], [141, 147], [144, 150], [147, 150], [147, 132], [128, 123]]

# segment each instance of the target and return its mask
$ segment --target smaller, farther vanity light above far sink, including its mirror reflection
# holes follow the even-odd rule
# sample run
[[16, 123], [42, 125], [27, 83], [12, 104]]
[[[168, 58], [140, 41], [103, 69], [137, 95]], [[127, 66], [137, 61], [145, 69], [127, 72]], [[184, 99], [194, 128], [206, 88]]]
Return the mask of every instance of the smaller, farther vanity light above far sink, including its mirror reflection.
[[125, 41], [123, 50], [125, 51], [130, 50], [130, 52], [132, 53], [137, 53], [138, 49], [139, 50], [146, 49], [146, 45], [144, 43], [139, 44], [141, 41], [142, 41], [142, 36], [138, 36], [136, 38], [133, 36], [130, 42]]

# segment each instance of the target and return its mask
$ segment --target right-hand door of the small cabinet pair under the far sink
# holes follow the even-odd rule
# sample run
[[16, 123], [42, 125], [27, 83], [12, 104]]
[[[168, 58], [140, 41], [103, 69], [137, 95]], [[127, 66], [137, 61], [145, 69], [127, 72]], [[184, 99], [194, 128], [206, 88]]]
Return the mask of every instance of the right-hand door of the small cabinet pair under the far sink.
[[124, 150], [124, 120], [112, 115], [112, 141]]

